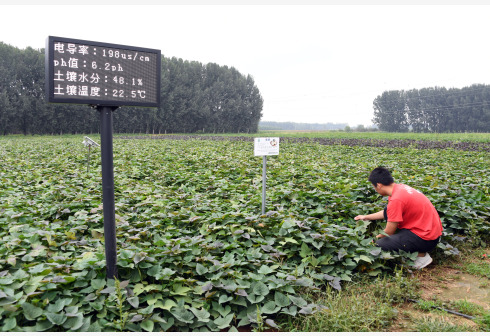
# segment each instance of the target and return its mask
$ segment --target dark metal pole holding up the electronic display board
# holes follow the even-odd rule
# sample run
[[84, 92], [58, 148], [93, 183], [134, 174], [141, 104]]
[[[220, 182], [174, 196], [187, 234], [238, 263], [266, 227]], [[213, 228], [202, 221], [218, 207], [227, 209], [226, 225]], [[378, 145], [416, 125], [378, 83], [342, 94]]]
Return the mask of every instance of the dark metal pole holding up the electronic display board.
[[114, 163], [112, 151], [112, 112], [115, 106], [97, 106], [100, 112], [102, 159], [102, 200], [107, 279], [117, 278], [116, 210], [114, 203]]

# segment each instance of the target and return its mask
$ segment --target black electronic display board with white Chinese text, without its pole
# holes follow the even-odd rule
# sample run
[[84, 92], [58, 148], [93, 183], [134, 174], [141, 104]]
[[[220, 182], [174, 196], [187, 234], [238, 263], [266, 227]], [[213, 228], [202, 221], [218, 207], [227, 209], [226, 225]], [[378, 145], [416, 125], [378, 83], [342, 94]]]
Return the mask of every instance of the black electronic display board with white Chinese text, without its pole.
[[49, 36], [50, 103], [160, 106], [161, 51]]

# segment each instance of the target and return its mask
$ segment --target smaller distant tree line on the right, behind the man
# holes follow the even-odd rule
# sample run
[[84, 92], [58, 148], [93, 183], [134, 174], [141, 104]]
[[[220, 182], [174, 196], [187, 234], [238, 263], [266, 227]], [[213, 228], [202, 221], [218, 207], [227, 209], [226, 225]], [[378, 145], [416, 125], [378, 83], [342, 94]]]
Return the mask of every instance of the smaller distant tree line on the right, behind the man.
[[386, 132], [490, 132], [490, 86], [385, 91], [373, 122]]

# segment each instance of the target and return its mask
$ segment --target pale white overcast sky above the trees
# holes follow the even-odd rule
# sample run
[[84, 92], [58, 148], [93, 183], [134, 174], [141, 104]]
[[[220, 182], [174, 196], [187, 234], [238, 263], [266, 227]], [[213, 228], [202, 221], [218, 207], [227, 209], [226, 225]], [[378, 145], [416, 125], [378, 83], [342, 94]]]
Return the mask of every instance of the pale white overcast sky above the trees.
[[368, 126], [384, 91], [490, 84], [488, 5], [57, 2], [0, 5], [0, 41], [39, 49], [60, 36], [235, 67], [254, 78], [267, 121]]

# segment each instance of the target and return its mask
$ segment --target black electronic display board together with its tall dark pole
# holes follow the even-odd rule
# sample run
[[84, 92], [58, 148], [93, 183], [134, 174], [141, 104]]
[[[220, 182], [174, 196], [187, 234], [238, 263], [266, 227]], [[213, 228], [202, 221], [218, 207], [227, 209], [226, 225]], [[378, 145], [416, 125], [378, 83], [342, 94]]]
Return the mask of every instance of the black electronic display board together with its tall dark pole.
[[88, 104], [100, 114], [107, 278], [117, 278], [112, 115], [120, 106], [159, 107], [161, 51], [49, 36], [49, 103]]

